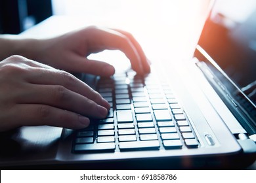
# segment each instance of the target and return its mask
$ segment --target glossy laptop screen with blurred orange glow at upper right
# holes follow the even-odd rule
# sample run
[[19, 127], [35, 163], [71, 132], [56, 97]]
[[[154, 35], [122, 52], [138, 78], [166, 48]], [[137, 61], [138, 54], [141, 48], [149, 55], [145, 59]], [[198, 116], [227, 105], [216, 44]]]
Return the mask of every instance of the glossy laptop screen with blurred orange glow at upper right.
[[216, 1], [199, 45], [256, 103], [256, 1]]

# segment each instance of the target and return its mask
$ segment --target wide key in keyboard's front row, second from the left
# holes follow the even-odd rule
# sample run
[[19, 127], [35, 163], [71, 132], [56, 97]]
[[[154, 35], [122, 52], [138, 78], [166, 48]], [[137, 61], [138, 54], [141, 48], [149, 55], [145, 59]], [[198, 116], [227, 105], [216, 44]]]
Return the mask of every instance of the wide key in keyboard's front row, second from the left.
[[160, 148], [158, 141], [132, 141], [119, 142], [120, 150], [144, 150], [148, 148]]

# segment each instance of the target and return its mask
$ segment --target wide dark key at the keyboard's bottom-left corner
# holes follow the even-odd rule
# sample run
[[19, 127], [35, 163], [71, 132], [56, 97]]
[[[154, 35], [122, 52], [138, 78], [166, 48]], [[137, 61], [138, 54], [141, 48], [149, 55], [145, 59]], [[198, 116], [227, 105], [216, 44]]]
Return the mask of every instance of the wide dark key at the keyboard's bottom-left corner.
[[116, 144], [114, 142], [108, 143], [96, 143], [96, 144], [76, 144], [74, 147], [75, 152], [86, 152], [86, 151], [114, 151]]

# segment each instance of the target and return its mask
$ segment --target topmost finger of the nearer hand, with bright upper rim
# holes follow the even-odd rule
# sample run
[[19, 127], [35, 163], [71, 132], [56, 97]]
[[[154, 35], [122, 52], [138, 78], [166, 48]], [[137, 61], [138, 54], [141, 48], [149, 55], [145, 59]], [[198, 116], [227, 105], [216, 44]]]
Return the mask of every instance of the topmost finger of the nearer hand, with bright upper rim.
[[26, 80], [32, 84], [64, 86], [64, 88], [79, 93], [108, 110], [110, 109], [108, 102], [98, 92], [70, 73], [56, 69], [33, 68], [28, 75]]

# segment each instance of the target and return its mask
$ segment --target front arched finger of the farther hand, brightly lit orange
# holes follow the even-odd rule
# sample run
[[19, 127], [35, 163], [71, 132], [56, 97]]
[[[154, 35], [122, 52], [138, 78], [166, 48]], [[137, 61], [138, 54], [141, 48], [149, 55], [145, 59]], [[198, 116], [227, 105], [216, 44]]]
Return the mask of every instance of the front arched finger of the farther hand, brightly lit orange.
[[[112, 29], [87, 29], [90, 37], [87, 38], [91, 47], [89, 52], [102, 50], [121, 50], [131, 61], [131, 67], [138, 73], [143, 74], [142, 61], [137, 49], [128, 37]], [[88, 32], [85, 32], [88, 34]]]

